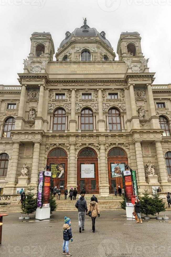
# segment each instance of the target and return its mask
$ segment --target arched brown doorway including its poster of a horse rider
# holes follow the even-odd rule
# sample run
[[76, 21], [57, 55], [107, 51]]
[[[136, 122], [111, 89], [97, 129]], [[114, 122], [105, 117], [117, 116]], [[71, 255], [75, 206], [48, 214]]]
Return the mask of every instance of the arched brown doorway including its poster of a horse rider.
[[[114, 187], [117, 190], [119, 186], [123, 188], [122, 184], [122, 174], [117, 173], [117, 170], [124, 168], [124, 165], [128, 163], [127, 155], [125, 151], [121, 148], [114, 147], [108, 152], [108, 175], [109, 175], [109, 193], [114, 193]], [[123, 165], [117, 165], [123, 164]], [[119, 169], [117, 169], [119, 167]], [[115, 173], [116, 170], [116, 173]]]

